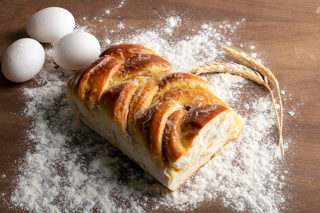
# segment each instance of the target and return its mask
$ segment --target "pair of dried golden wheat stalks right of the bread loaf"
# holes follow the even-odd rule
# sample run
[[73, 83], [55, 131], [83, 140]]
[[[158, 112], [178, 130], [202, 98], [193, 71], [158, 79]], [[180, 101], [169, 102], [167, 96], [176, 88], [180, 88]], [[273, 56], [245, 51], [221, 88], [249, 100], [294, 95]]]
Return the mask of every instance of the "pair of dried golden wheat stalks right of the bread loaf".
[[[231, 73], [231, 74], [239, 75], [239, 76], [242, 76], [243, 78], [255, 81], [258, 84], [264, 85], [271, 94], [271, 101], [276, 113], [277, 125], [279, 130], [279, 147], [281, 149], [282, 155], [284, 155], [284, 146], [283, 146], [283, 138], [282, 138], [283, 108], [282, 108], [282, 100], [280, 96], [279, 83], [277, 79], [271, 73], [269, 68], [265, 67], [261, 62], [249, 56], [245, 52], [233, 46], [223, 46], [222, 50], [227, 55], [237, 59], [240, 64], [220, 61], [219, 63], [200, 65], [197, 68], [193, 68], [191, 71], [196, 74]], [[273, 96], [272, 89], [269, 86], [269, 82], [272, 84], [273, 87], [277, 89], [277, 92], [278, 92], [279, 103], [280, 103], [280, 116], [278, 114], [275, 98]]]

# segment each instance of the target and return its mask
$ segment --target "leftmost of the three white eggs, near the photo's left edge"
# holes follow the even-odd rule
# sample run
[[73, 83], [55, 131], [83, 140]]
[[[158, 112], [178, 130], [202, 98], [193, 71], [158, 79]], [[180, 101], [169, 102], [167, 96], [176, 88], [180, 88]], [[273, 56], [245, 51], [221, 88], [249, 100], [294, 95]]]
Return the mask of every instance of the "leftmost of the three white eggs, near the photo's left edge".
[[25, 82], [35, 77], [45, 59], [42, 45], [32, 38], [13, 42], [2, 58], [2, 73], [13, 82]]

